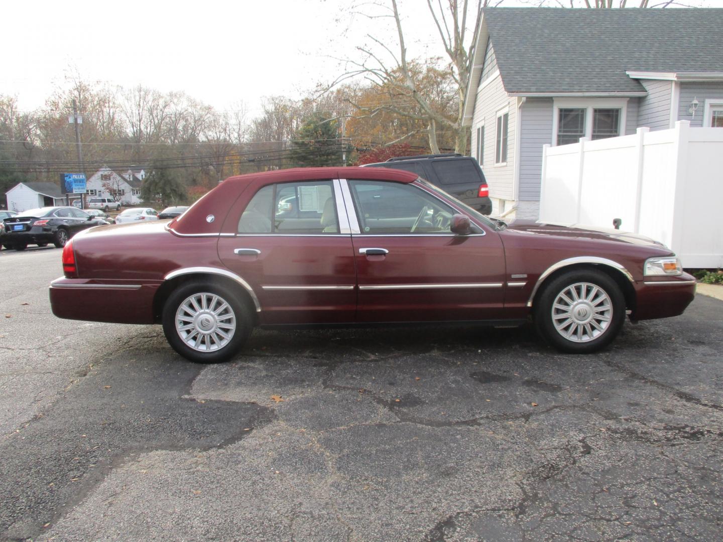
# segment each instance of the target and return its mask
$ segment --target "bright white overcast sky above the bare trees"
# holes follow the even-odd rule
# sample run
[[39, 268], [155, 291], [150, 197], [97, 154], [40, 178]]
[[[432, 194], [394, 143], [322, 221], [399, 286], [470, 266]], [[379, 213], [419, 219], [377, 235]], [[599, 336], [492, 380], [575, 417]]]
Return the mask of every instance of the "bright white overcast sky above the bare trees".
[[[6, 2], [0, 94], [30, 111], [78, 73], [88, 82], [183, 90], [220, 110], [242, 100], [257, 113], [263, 96], [299, 98], [341, 74], [329, 56], [354, 57], [366, 33], [396, 47], [385, 21], [353, 13], [364, 1]], [[399, 5], [408, 56], [441, 55], [427, 2]]]

